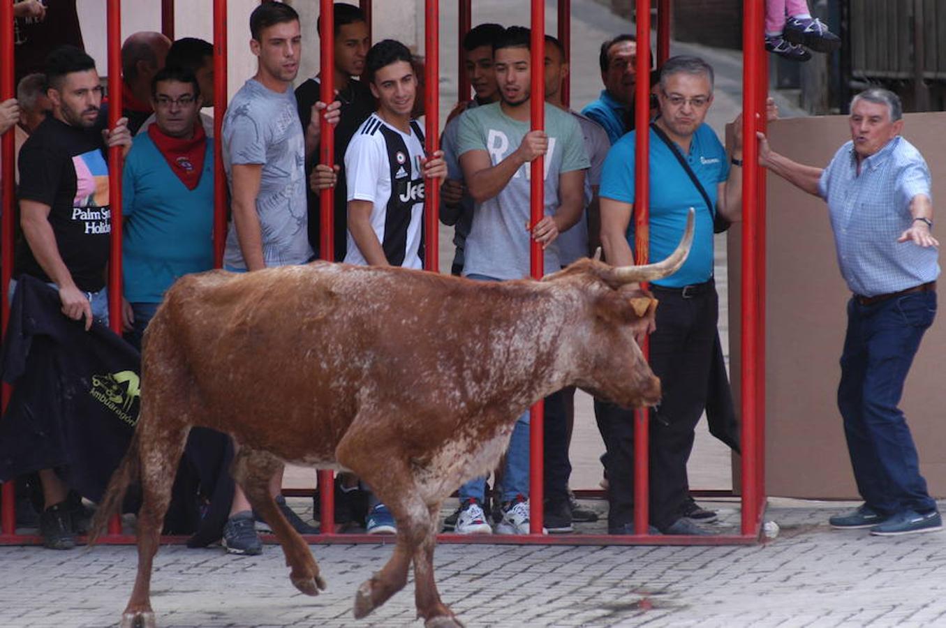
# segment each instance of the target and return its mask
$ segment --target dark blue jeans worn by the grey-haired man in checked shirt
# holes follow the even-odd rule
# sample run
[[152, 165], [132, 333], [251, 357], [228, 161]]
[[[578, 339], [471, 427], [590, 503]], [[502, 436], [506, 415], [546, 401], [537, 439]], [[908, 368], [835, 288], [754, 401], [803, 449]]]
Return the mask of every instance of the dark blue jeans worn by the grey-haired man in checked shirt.
[[913, 292], [873, 305], [848, 303], [837, 405], [850, 463], [867, 506], [887, 515], [929, 513], [920, 460], [900, 403], [923, 332], [937, 313], [936, 292]]

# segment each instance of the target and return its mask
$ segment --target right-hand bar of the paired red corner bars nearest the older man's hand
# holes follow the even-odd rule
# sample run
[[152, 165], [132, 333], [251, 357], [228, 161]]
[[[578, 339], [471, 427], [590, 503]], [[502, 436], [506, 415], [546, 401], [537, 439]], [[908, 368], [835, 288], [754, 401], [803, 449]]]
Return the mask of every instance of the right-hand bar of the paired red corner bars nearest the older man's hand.
[[[768, 97], [768, 55], [760, 53], [759, 61], [759, 96], [758, 107], [761, 115], [759, 116], [758, 126], [762, 132], [767, 132], [765, 100]], [[759, 294], [757, 298], [759, 307], [759, 340], [756, 347], [756, 486], [759, 499], [759, 520], [761, 520], [762, 510], [765, 508], [765, 193], [766, 193], [766, 172], [765, 168], [754, 168], [758, 173], [758, 210], [756, 211], [757, 223], [757, 251], [756, 251], [756, 272], [758, 283], [756, 284]]]

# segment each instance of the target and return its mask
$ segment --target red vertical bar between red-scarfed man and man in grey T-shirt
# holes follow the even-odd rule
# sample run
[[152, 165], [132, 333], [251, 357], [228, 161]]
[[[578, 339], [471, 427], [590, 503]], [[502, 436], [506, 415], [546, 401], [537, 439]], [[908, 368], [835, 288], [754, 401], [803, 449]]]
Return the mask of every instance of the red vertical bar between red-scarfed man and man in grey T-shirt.
[[227, 237], [227, 175], [223, 114], [227, 111], [227, 1], [214, 0], [214, 266], [223, 266]]

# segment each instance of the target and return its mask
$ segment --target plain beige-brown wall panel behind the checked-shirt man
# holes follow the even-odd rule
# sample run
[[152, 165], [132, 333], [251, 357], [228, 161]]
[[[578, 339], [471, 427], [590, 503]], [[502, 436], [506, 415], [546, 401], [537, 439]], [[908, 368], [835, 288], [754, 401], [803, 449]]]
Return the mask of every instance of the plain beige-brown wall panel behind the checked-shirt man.
[[[946, 219], [941, 201], [946, 198], [946, 147], [942, 142], [946, 113], [904, 117], [903, 135], [926, 158], [933, 173], [934, 206], [940, 220]], [[835, 150], [850, 139], [843, 116], [781, 120], [769, 135], [776, 150], [817, 166], [827, 165]], [[730, 356], [737, 390], [740, 237], [738, 229], [729, 235]], [[766, 247], [767, 494], [857, 498], [835, 406], [850, 292], [837, 270], [825, 203], [770, 174]], [[946, 497], [943, 355], [946, 323], [940, 320], [920, 345], [901, 406], [920, 449], [921, 471], [937, 497]]]

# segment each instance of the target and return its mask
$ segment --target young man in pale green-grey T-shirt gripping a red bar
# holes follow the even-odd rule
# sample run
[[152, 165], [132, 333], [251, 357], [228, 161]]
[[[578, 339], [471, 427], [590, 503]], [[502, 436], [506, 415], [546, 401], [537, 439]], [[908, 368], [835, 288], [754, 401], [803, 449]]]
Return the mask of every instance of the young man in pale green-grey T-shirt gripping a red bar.
[[[493, 44], [500, 101], [469, 110], [460, 118], [460, 166], [474, 201], [473, 227], [466, 238], [464, 276], [483, 281], [521, 279], [529, 274], [530, 236], [545, 249], [545, 271], [561, 269], [555, 238], [581, 216], [588, 158], [574, 116], [545, 105], [545, 131], [531, 131], [531, 58], [528, 28], [511, 26]], [[542, 97], [541, 86], [538, 97]], [[545, 217], [532, 228], [530, 162], [545, 156]], [[556, 408], [561, 404], [554, 405]], [[549, 410], [552, 410], [550, 408]], [[560, 414], [561, 412], [559, 412]], [[564, 420], [558, 417], [554, 420]], [[529, 413], [517, 421], [506, 456], [502, 520], [497, 532], [529, 532]], [[552, 499], [556, 487], [547, 487]], [[567, 487], [562, 486], [567, 499]], [[483, 479], [460, 488], [464, 516], [483, 498]], [[565, 502], [567, 505], [567, 501]], [[549, 532], [571, 532], [571, 516], [546, 515]], [[488, 532], [475, 526], [476, 532]]]

